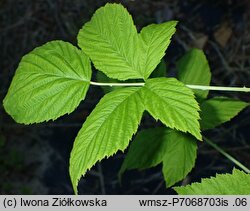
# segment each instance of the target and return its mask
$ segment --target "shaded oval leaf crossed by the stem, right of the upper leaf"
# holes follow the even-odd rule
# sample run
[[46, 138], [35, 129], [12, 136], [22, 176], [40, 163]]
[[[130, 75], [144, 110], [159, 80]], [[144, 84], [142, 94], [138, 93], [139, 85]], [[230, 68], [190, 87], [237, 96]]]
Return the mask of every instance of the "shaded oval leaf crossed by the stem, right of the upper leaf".
[[[184, 84], [208, 86], [211, 72], [202, 50], [192, 49], [177, 61], [178, 79]], [[208, 90], [193, 90], [198, 98], [205, 99]]]

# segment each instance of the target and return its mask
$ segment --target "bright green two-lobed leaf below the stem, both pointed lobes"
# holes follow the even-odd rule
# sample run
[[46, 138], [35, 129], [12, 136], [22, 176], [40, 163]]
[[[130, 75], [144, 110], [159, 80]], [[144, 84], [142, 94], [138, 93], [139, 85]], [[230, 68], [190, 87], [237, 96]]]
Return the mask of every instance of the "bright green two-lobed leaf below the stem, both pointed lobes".
[[70, 175], [75, 191], [81, 175], [98, 160], [127, 147], [145, 109], [167, 126], [200, 138], [198, 108], [192, 91], [174, 78], [149, 79], [144, 87], [105, 95], [85, 121], [71, 152]]

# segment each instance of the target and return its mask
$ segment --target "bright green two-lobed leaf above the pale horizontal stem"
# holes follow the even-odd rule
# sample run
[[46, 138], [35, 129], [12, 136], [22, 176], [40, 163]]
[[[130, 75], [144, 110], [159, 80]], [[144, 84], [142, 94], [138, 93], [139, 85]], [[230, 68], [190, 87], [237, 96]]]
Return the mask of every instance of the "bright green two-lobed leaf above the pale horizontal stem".
[[147, 79], [164, 56], [175, 25], [152, 24], [138, 34], [122, 5], [106, 4], [80, 30], [78, 45], [110, 78]]

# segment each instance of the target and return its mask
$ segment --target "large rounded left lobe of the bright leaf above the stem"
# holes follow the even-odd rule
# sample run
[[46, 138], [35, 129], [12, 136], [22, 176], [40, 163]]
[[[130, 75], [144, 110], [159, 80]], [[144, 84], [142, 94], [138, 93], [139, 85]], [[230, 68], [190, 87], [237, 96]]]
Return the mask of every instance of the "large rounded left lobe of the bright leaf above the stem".
[[122, 5], [108, 3], [98, 9], [79, 31], [77, 39], [95, 67], [110, 78], [144, 78], [138, 69], [137, 30]]

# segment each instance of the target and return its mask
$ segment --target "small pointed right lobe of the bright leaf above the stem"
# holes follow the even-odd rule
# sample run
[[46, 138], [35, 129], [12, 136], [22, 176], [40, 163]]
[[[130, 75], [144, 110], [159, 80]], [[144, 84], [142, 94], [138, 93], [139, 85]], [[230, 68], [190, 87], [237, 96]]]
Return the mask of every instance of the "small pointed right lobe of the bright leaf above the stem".
[[145, 78], [148, 78], [156, 66], [160, 63], [165, 51], [170, 44], [171, 37], [175, 33], [177, 21], [169, 21], [162, 24], [151, 24], [140, 32], [143, 40], [141, 52], [141, 69]]

